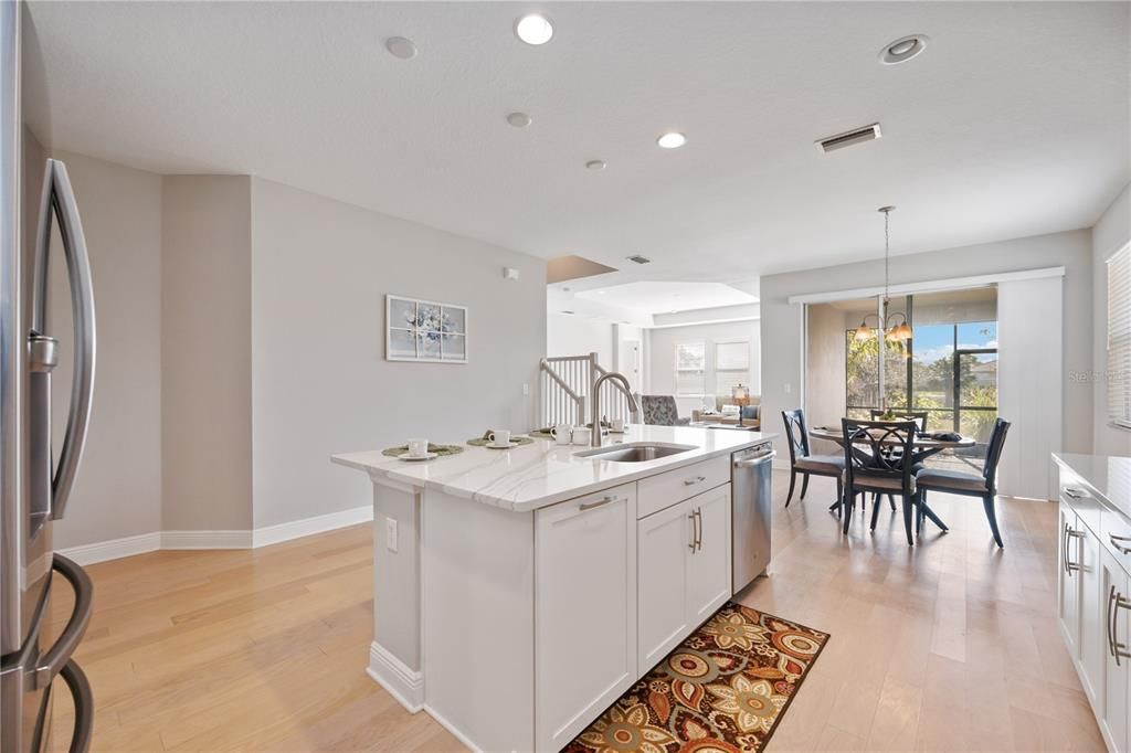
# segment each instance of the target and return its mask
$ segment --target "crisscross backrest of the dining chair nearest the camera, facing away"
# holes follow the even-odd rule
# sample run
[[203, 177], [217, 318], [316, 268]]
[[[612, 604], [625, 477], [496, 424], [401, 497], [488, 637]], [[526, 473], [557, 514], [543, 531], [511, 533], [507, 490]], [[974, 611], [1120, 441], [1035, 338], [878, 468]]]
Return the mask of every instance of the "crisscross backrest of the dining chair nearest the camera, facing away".
[[852, 486], [856, 478], [865, 484], [870, 478], [892, 478], [909, 493], [915, 462], [915, 429], [914, 419], [841, 418], [848, 485]]

